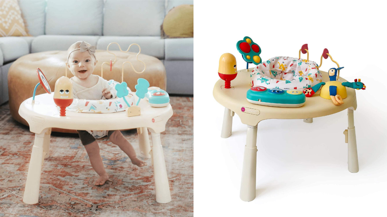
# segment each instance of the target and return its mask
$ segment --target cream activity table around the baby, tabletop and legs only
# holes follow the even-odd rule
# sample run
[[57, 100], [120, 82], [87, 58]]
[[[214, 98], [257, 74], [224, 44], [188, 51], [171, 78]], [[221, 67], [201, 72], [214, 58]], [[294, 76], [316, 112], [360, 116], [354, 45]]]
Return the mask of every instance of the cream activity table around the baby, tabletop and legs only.
[[[141, 100], [141, 115], [127, 117], [126, 111], [115, 113], [77, 113], [66, 111], [66, 116], [59, 116], [54, 94], [44, 93], [24, 100], [19, 108], [19, 114], [24, 118], [35, 133], [31, 160], [28, 167], [27, 181], [23, 202], [35, 204], [39, 201], [39, 188], [43, 160], [49, 157], [51, 128], [75, 130], [123, 130], [137, 128], [140, 156], [151, 158], [154, 170], [156, 201], [168, 203], [171, 193], [165, 166], [164, 153], [160, 133], [165, 131], [167, 121], [172, 117], [172, 106], [153, 108], [147, 100]], [[152, 147], [149, 143], [148, 130], [151, 132]]]

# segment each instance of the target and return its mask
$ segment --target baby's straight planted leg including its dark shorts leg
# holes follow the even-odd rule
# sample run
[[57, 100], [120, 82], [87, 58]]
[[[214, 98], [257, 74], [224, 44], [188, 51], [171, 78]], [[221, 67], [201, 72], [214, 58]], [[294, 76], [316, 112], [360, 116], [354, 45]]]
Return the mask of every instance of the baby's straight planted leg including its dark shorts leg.
[[100, 176], [99, 179], [95, 182], [95, 185], [103, 185], [109, 179], [108, 174], [105, 171], [104, 163], [99, 152], [99, 146], [95, 138], [85, 130], [77, 130], [79, 138], [81, 139], [82, 144], [85, 146], [87, 155], [90, 159], [91, 166]]

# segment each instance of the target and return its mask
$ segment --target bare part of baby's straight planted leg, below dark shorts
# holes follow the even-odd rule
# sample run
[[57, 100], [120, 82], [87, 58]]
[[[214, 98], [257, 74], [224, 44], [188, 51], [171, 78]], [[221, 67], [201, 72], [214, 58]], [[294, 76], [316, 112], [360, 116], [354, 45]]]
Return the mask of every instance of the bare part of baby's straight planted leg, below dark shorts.
[[104, 168], [104, 163], [102, 163], [102, 158], [99, 152], [99, 146], [97, 141], [94, 141], [88, 145], [85, 145], [87, 155], [89, 156], [91, 166], [98, 173], [100, 178], [95, 182], [95, 185], [103, 185], [108, 181], [109, 176], [106, 173]]

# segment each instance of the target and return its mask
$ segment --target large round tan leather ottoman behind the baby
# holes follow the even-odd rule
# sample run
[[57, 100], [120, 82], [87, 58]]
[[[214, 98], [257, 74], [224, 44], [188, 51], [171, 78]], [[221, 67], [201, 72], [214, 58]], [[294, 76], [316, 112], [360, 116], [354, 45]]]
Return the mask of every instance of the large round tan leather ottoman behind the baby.
[[[137, 72], [144, 69], [144, 65], [136, 60], [136, 53], [123, 53], [120, 51], [110, 51], [117, 55], [117, 60], [110, 72], [109, 64], [104, 64], [103, 78], [106, 80], [113, 79], [121, 82], [122, 79], [122, 63], [130, 61]], [[96, 51], [95, 57], [98, 59], [96, 68], [93, 74], [101, 76], [101, 65], [103, 62], [114, 61], [114, 55], [107, 51]], [[65, 75], [65, 64], [67, 58], [66, 51], [47, 51], [35, 54], [28, 54], [17, 59], [8, 71], [8, 92], [9, 92], [9, 109], [12, 117], [28, 126], [27, 122], [20, 117], [19, 107], [21, 103], [32, 97], [36, 84], [39, 83], [36, 74], [36, 68], [40, 68], [47, 78], [51, 91], [54, 91], [55, 82], [58, 78]], [[130, 63], [124, 66], [124, 81], [128, 84], [130, 90], [135, 91], [134, 86], [137, 84], [138, 78], [145, 78], [149, 81], [151, 87], [159, 87], [166, 90], [167, 76], [163, 63], [156, 57], [140, 54], [138, 59], [145, 62], [147, 68], [145, 72], [138, 74], [133, 71]], [[72, 73], [67, 70], [67, 77], [72, 77]], [[42, 85], [39, 85], [36, 90], [36, 95], [43, 94], [45, 91]], [[52, 128], [56, 132], [76, 133], [75, 130]]]

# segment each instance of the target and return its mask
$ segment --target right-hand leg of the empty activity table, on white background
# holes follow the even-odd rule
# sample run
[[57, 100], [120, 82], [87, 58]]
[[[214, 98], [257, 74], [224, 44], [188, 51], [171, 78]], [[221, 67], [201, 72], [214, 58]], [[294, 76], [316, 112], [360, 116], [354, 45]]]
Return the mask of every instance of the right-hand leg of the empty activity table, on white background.
[[359, 172], [355, 123], [352, 109], [348, 109], [348, 171], [351, 173]]

